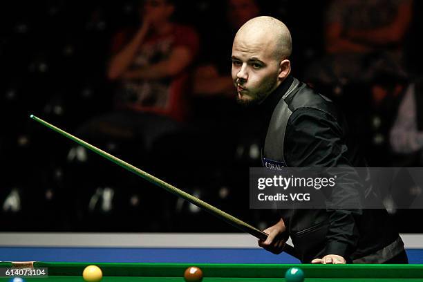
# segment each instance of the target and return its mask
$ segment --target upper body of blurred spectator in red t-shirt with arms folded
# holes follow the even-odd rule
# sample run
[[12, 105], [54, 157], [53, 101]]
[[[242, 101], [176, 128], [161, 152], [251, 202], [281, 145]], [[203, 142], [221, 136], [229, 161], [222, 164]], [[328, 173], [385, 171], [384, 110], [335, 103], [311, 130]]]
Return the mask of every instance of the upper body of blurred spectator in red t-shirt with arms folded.
[[142, 1], [142, 24], [115, 38], [108, 76], [122, 83], [120, 106], [183, 120], [198, 37], [193, 28], [171, 21], [174, 10], [171, 0]]

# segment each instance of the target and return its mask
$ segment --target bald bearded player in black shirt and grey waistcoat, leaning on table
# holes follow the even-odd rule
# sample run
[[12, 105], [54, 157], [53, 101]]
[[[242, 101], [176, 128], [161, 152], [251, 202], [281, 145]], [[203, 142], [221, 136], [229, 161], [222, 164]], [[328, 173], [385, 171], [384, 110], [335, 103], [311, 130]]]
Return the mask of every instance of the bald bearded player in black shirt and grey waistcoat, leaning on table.
[[[232, 47], [238, 101], [264, 111], [265, 166], [364, 167], [332, 102], [290, 75], [291, 52], [288, 28], [272, 17], [247, 21]], [[355, 195], [350, 183], [339, 179], [338, 200]], [[384, 209], [291, 209], [264, 232], [261, 247], [280, 253], [290, 236], [303, 263], [408, 262]]]

